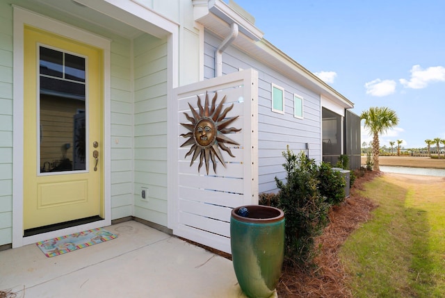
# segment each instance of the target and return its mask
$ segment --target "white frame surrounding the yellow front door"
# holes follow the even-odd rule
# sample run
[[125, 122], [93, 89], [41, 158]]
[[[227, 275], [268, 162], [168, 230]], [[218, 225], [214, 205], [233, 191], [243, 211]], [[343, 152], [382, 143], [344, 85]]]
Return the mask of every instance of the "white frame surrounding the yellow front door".
[[[41, 233], [29, 237], [23, 236], [23, 104], [24, 104], [24, 25], [28, 24], [45, 31], [63, 35], [80, 42], [91, 44], [104, 50], [104, 220], [82, 224], [67, 229]], [[13, 130], [13, 248], [28, 245], [48, 238], [70, 233], [95, 229], [111, 224], [111, 40], [94, 35], [63, 22], [32, 13], [29, 10], [14, 6], [14, 130]]]

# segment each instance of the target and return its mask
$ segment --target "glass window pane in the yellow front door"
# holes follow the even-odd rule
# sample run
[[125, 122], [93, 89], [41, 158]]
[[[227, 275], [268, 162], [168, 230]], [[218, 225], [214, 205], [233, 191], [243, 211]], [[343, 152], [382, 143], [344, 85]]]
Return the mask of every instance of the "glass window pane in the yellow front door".
[[40, 172], [86, 169], [86, 59], [40, 47]]

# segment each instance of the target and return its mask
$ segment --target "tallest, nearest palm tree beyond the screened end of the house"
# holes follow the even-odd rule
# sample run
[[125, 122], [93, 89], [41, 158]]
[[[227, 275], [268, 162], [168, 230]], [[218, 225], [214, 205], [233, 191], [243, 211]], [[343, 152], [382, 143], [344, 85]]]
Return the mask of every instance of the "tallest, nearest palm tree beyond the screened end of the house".
[[373, 170], [380, 171], [379, 167], [379, 149], [380, 140], [378, 135], [386, 133], [388, 129], [398, 124], [398, 117], [394, 110], [387, 107], [371, 107], [369, 110], [364, 110], [360, 115], [364, 119], [364, 127], [368, 127], [370, 133], [373, 135]]

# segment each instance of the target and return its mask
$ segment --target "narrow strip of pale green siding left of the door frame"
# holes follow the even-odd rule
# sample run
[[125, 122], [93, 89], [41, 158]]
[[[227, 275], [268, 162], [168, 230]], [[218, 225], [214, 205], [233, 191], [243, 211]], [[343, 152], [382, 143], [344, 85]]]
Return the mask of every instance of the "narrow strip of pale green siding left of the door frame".
[[0, 2], [0, 245], [13, 239], [13, 8]]

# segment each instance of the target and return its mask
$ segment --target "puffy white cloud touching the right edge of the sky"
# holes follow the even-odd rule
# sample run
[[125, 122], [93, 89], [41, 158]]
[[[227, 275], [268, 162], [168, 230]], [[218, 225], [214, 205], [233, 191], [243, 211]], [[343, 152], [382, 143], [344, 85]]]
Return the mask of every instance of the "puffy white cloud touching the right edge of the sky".
[[420, 65], [414, 65], [410, 72], [410, 81], [407, 81], [405, 78], [398, 80], [405, 88], [422, 89], [426, 88], [429, 83], [445, 82], [445, 67], [442, 66], [432, 66], [427, 69], [422, 69]]

